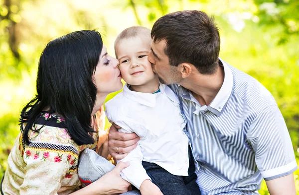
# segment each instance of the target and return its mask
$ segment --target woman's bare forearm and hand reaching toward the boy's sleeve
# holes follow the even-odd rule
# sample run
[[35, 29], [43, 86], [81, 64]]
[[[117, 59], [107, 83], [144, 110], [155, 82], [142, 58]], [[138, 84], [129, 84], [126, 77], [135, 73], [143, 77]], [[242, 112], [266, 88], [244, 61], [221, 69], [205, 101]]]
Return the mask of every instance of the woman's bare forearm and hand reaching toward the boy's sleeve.
[[115, 195], [128, 192], [131, 184], [121, 178], [120, 172], [129, 165], [130, 163], [127, 162], [119, 162], [112, 171], [106, 173], [96, 182], [70, 195]]

